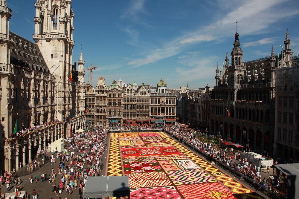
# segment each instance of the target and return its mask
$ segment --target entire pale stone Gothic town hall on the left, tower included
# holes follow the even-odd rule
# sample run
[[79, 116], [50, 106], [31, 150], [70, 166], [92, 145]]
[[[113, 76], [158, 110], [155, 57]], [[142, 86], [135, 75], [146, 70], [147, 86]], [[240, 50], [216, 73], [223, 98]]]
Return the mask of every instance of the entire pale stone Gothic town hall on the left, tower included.
[[[75, 75], [68, 80], [71, 72], [77, 74], [71, 0], [36, 1], [36, 43], [9, 31], [12, 10], [5, 0], [0, 3], [0, 161], [10, 171], [72, 129], [83, 128], [85, 96]], [[15, 124], [24, 131], [12, 135]]]

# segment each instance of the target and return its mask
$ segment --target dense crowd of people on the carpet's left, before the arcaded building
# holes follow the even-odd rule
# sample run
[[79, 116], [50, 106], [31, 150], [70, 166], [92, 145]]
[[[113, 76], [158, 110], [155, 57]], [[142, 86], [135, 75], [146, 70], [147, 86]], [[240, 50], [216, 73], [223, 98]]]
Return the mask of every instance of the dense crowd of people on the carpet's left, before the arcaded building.
[[48, 174], [43, 173], [41, 179], [48, 180], [54, 195], [63, 191], [71, 195], [74, 189], [78, 189], [79, 197], [82, 197], [87, 176], [97, 176], [100, 171], [107, 132], [105, 128], [87, 128], [83, 133], [68, 137], [62, 153], [57, 149], [52, 152], [50, 161], [53, 168]]

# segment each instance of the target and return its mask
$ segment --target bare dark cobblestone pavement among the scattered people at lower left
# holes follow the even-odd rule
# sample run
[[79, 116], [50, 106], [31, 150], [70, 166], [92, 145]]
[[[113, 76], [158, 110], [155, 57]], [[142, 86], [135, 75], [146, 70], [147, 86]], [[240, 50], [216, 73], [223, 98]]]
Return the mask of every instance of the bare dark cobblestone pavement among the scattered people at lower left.
[[[108, 142], [108, 140], [107, 140]], [[107, 148], [108, 148], [108, 143], [107, 143], [107, 146], [105, 148], [105, 151], [104, 151], [104, 157], [103, 157], [103, 165], [102, 165], [102, 170], [100, 172], [100, 175], [104, 175], [105, 174], [105, 169], [106, 169], [106, 166], [105, 166], [105, 163], [106, 163], [106, 157], [107, 157]], [[27, 194], [29, 195], [29, 198], [32, 199], [32, 192], [33, 192], [33, 189], [36, 190], [37, 194], [38, 194], [38, 199], [51, 199], [51, 198], [59, 198], [61, 197], [62, 199], [65, 199], [65, 198], [79, 198], [79, 192], [78, 192], [78, 188], [77, 189], [74, 189], [74, 192], [69, 195], [67, 193], [65, 193], [65, 190], [63, 190], [62, 194], [57, 196], [57, 195], [54, 195], [53, 192], [52, 192], [52, 184], [49, 184], [49, 181], [48, 180], [45, 180], [44, 182], [42, 182], [42, 180], [40, 179], [40, 176], [43, 172], [47, 172], [47, 174], [51, 174], [51, 169], [54, 168], [56, 171], [57, 171], [57, 167], [58, 167], [58, 161], [56, 161], [56, 163], [54, 165], [51, 165], [50, 162], [46, 163], [45, 165], [41, 166], [39, 169], [36, 169], [35, 171], [33, 172], [27, 172], [27, 168], [26, 167], [23, 167], [21, 168], [17, 173], [20, 173], [20, 178], [22, 180], [22, 183], [21, 183], [21, 189], [20, 191], [27, 191]], [[69, 164], [70, 162], [66, 163], [66, 164]], [[30, 180], [29, 180], [29, 177], [30, 175], [32, 174], [33, 178], [36, 174], [38, 174], [38, 181], [37, 183], [35, 181], [33, 181], [33, 183], [30, 183]], [[59, 180], [60, 180], [60, 177], [56, 177], [56, 185], [59, 184]], [[10, 193], [14, 192], [15, 191], [15, 187], [16, 187], [16, 184], [13, 184], [13, 185], [10, 185], [9, 189], [10, 189]], [[83, 192], [83, 190], [82, 190]], [[3, 186], [1, 186], [1, 193], [2, 193], [2, 196], [4, 194], [7, 193], [6, 191], [6, 184], [4, 184]]]

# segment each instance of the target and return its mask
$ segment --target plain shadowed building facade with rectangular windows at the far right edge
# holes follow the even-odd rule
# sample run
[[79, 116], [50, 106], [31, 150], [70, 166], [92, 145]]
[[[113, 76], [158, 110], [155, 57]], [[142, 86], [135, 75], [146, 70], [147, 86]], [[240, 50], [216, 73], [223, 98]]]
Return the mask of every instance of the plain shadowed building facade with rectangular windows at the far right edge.
[[[293, 64], [295, 64], [293, 62]], [[299, 68], [276, 70], [274, 157], [299, 162]]]

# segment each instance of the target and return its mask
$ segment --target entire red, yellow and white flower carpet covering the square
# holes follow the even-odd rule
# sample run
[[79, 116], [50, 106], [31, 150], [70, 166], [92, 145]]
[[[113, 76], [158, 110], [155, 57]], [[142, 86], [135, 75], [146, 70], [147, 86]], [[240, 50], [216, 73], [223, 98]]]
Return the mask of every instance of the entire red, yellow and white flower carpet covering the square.
[[106, 174], [128, 175], [131, 199], [261, 198], [163, 132], [111, 133]]

